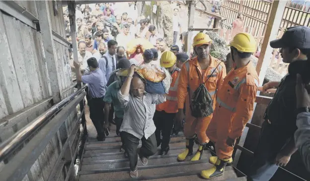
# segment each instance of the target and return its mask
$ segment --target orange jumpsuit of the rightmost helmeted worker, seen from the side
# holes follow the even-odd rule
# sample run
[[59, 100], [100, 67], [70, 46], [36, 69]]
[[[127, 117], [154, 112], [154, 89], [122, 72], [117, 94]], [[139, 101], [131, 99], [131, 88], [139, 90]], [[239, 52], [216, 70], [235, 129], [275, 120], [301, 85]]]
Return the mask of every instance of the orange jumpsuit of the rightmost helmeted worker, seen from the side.
[[210, 140], [216, 143], [219, 159], [232, 157], [233, 147], [226, 144], [226, 139], [228, 136], [232, 139], [240, 137], [246, 122], [251, 119], [257, 86], [258, 76], [252, 62], [232, 69], [225, 77], [206, 131]]

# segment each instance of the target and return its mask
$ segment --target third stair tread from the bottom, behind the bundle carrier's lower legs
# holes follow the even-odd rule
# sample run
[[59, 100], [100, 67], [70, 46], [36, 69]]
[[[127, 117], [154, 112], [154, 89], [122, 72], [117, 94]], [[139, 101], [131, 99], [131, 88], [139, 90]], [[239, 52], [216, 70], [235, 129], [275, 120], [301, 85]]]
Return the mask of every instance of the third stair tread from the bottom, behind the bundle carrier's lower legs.
[[[159, 149], [160, 150], [160, 149]], [[154, 156], [158, 156], [160, 151], [157, 151]], [[174, 150], [169, 150], [167, 155], [175, 155], [179, 154], [184, 150], [184, 148], [181, 149], [174, 149]], [[209, 151], [205, 151], [204, 153], [208, 153]], [[98, 162], [104, 162], [104, 161], [109, 161], [109, 160], [119, 160], [119, 159], [126, 159], [124, 152], [120, 152], [121, 154], [118, 155], [107, 155], [107, 156], [91, 156], [91, 157], [84, 157], [82, 165], [87, 165], [87, 164], [94, 164]], [[151, 157], [152, 158], [152, 157]], [[128, 160], [128, 159], [127, 159]]]

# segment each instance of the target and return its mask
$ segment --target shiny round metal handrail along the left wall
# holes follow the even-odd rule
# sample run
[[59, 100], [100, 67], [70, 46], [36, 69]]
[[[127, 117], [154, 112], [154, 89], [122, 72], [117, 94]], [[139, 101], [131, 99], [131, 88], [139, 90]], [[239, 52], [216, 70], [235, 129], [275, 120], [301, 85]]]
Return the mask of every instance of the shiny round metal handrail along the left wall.
[[71, 94], [61, 102], [54, 105], [52, 108], [41, 114], [38, 118], [31, 121], [29, 124], [21, 128], [7, 140], [0, 144], [0, 162], [3, 161], [9, 154], [18, 148], [25, 140], [29, 138], [44, 122], [49, 120], [55, 113], [62, 109], [66, 104], [75, 99], [87, 86], [82, 87], [77, 92]]

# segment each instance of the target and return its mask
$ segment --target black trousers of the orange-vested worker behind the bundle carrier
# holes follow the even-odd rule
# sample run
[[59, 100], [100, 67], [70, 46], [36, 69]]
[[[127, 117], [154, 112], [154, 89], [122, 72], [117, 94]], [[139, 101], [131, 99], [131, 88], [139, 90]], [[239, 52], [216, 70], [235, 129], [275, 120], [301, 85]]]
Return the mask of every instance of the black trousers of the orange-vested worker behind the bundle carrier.
[[[153, 120], [156, 126], [155, 136], [157, 146], [161, 143], [161, 149], [169, 147], [170, 135], [174, 124], [175, 113], [166, 113], [165, 111], [155, 111]], [[162, 140], [160, 139], [160, 133]]]

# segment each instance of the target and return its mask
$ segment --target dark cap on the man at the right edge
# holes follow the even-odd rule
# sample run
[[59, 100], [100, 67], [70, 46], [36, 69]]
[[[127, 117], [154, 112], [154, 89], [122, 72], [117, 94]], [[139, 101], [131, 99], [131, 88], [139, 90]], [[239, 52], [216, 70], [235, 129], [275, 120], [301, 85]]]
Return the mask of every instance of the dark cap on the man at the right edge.
[[270, 42], [272, 48], [299, 48], [310, 49], [310, 28], [306, 26], [294, 26], [287, 29], [282, 38]]

